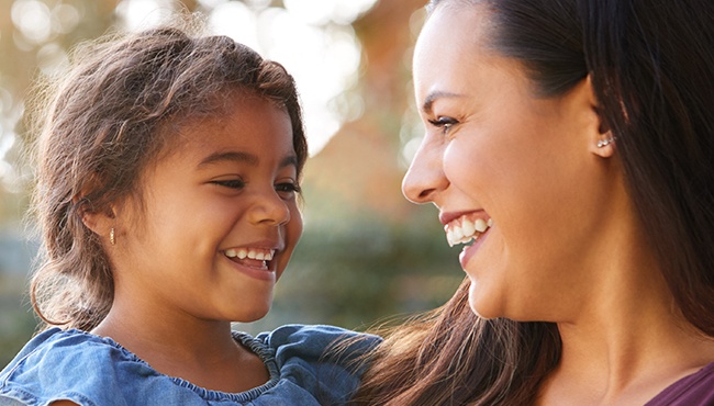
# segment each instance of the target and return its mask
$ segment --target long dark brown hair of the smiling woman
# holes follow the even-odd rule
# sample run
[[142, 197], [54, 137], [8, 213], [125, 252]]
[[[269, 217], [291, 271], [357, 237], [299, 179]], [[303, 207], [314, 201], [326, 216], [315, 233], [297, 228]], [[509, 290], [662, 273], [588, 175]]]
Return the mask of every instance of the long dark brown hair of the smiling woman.
[[[678, 311], [714, 337], [714, 2], [433, 0], [429, 8], [447, 5], [489, 13], [490, 45], [522, 64], [538, 97], [560, 97], [591, 77]], [[468, 285], [384, 341], [355, 404], [535, 401], [560, 358], [557, 327], [479, 318]]]

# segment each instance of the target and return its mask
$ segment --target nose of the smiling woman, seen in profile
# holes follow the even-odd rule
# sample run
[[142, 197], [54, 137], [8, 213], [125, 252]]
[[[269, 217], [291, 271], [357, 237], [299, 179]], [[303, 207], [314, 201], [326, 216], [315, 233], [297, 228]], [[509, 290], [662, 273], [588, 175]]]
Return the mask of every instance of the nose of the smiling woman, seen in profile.
[[402, 193], [411, 202], [434, 202], [438, 192], [448, 185], [444, 176], [443, 148], [436, 137], [428, 134], [424, 137], [402, 181]]

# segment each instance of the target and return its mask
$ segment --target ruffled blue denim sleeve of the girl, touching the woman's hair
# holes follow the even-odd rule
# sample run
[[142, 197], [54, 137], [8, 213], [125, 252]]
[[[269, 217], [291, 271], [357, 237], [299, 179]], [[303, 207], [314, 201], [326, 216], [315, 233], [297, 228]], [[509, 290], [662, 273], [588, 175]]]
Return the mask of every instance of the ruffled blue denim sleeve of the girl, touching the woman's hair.
[[366, 356], [380, 341], [377, 336], [338, 327], [302, 325], [283, 326], [256, 338], [275, 351], [280, 371], [276, 392], [288, 390], [281, 385], [294, 385], [321, 405], [344, 405], [352, 397]]

